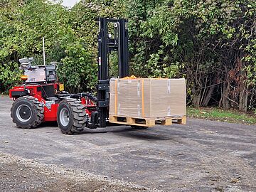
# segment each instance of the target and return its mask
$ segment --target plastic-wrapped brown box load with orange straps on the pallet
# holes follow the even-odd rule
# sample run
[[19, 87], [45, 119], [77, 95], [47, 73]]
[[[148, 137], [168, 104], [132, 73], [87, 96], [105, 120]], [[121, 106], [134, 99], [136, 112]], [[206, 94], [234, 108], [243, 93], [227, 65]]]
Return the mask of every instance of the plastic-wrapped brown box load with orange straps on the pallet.
[[142, 118], [184, 117], [185, 79], [111, 79], [110, 115]]

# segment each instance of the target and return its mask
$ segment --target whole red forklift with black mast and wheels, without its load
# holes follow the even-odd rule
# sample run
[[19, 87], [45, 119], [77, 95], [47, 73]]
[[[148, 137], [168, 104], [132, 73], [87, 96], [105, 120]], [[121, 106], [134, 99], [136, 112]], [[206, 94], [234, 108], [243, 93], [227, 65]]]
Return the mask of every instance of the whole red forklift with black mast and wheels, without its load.
[[90, 92], [70, 94], [64, 91], [63, 84], [58, 82], [56, 63], [32, 65], [33, 58], [20, 59], [23, 85], [9, 90], [9, 97], [14, 100], [11, 117], [17, 127], [30, 129], [41, 122], [57, 121], [61, 132], [75, 134], [85, 127], [95, 129], [117, 125], [109, 122], [109, 55], [117, 51], [118, 78], [128, 76], [127, 20], [99, 18], [97, 22], [97, 97]]

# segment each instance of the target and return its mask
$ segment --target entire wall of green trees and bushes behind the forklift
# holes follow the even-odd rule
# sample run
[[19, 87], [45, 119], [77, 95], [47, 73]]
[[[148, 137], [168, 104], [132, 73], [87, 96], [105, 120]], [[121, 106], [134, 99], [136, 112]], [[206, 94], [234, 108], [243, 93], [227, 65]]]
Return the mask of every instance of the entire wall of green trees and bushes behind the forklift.
[[[196, 107], [256, 108], [254, 0], [85, 0], [70, 10], [44, 0], [2, 0], [0, 7], [1, 91], [16, 83], [6, 74], [17, 70], [18, 58], [42, 63], [43, 36], [47, 61], [61, 63], [66, 87], [94, 90], [95, 19], [125, 17], [131, 75], [186, 78], [188, 104]], [[117, 74], [116, 55], [110, 55], [110, 73]]]

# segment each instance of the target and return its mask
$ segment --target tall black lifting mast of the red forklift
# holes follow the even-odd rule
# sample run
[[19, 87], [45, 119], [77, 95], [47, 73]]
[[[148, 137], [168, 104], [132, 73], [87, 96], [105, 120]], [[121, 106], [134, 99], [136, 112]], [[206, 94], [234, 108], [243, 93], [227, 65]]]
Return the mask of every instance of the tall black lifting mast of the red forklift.
[[[107, 127], [110, 107], [110, 79], [108, 58], [112, 50], [118, 53], [118, 76], [129, 75], [128, 21], [124, 18], [99, 18], [98, 34], [98, 84], [97, 84], [97, 127]], [[114, 23], [114, 38], [108, 36], [107, 23]]]

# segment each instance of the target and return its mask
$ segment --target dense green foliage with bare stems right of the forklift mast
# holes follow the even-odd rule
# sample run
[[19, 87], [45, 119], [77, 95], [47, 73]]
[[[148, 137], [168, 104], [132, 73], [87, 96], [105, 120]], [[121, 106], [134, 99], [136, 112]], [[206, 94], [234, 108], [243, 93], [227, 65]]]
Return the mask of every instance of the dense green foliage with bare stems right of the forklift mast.
[[255, 1], [132, 0], [127, 7], [134, 73], [186, 77], [196, 107], [255, 107]]

